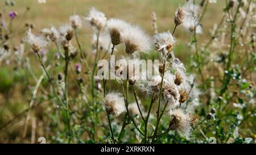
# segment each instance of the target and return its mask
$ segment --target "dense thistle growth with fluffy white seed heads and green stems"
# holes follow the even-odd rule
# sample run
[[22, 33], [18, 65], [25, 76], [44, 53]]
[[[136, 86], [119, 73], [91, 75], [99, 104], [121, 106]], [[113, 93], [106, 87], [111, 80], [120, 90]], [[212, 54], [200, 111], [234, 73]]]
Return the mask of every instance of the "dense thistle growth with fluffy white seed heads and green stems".
[[14, 142], [36, 143], [40, 135], [48, 143], [255, 143], [256, 4], [224, 5], [212, 29], [205, 26], [213, 6], [194, 0], [170, 9], [164, 28], [158, 11], [151, 23], [139, 19], [148, 32], [94, 7], [67, 23], [16, 28], [30, 8], [21, 14], [7, 1], [0, 98], [10, 104], [19, 89], [29, 104], [19, 114], [3, 110], [12, 117], [0, 135], [22, 124]]

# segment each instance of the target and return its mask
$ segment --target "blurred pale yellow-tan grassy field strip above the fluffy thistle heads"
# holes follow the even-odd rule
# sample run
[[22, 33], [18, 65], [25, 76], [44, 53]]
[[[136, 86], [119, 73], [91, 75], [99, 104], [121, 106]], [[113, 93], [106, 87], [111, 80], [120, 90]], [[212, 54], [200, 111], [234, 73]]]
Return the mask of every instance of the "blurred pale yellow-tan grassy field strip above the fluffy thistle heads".
[[[127, 22], [138, 24], [148, 33], [152, 34], [151, 12], [155, 11], [157, 15], [158, 30], [172, 31], [174, 28], [174, 13], [179, 5], [185, 2], [177, 0], [147, 0], [147, 1], [122, 1], [122, 0], [46, 0], [46, 3], [39, 3], [36, 0], [17, 1], [13, 10], [21, 15], [26, 7], [30, 7], [26, 21], [35, 25], [35, 30], [41, 30], [44, 27], [60, 26], [61, 23], [67, 23], [69, 16], [76, 13], [85, 16], [91, 7], [105, 12], [107, 18], [121, 18]], [[209, 3], [208, 11], [202, 21], [204, 35], [199, 39], [204, 40], [204, 36], [209, 36], [209, 29], [221, 18], [224, 1], [218, 3]], [[4, 2], [0, 3], [3, 7]], [[86, 45], [90, 40], [91, 29], [84, 30], [84, 43]], [[182, 28], [176, 31], [176, 37], [188, 41], [189, 33], [184, 32]], [[179, 47], [178, 47], [179, 48]]]

